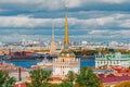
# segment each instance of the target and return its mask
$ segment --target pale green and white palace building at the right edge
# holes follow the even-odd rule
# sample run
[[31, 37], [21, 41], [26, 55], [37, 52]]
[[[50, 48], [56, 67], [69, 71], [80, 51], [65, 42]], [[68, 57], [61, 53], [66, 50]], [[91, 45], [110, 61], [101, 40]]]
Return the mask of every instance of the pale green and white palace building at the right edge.
[[102, 65], [121, 65], [130, 66], [130, 54], [121, 54], [116, 52], [114, 54], [95, 55], [95, 67]]

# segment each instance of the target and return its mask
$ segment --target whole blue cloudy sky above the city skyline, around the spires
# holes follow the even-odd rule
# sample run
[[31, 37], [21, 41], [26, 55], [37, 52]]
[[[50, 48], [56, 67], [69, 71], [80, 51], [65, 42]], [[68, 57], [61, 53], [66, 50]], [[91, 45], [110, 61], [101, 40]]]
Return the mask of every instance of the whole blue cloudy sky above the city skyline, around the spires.
[[0, 41], [64, 39], [65, 3], [72, 41], [130, 39], [130, 0], [0, 0]]

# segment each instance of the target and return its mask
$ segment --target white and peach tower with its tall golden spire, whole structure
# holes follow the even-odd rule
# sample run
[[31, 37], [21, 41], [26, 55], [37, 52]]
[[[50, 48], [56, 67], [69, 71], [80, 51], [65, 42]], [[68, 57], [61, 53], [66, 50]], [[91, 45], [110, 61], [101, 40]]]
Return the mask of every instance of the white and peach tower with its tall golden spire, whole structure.
[[61, 76], [61, 78], [65, 78], [69, 71], [78, 74], [79, 70], [80, 59], [76, 58], [75, 53], [69, 50], [67, 7], [65, 5], [64, 49], [60, 52], [57, 58], [53, 59], [53, 76]]

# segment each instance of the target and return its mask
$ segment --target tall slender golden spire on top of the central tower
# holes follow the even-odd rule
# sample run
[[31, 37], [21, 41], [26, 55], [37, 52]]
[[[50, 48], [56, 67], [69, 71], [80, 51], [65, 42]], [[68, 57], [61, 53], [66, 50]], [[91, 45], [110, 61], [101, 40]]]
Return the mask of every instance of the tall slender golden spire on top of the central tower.
[[64, 46], [69, 46], [68, 24], [67, 24], [67, 5], [66, 4], [65, 4], [65, 36], [64, 36]]

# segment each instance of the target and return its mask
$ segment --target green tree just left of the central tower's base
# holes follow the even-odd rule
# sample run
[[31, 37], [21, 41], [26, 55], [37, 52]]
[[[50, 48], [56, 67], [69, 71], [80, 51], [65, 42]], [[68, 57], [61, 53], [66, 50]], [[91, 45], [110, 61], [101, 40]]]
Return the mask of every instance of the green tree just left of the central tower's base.
[[31, 84], [28, 85], [28, 87], [43, 87], [43, 84], [48, 85], [47, 83], [50, 79], [51, 71], [34, 70], [30, 72], [30, 76]]

